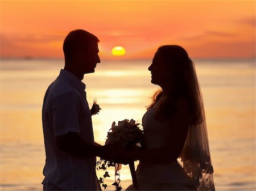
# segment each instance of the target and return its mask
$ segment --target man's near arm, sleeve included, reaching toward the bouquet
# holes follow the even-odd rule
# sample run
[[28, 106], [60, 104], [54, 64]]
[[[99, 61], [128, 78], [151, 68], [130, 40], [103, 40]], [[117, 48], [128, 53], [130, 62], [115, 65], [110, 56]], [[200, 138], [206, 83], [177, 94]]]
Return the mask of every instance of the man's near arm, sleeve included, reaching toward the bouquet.
[[83, 157], [100, 156], [104, 159], [114, 158], [116, 154], [113, 146], [105, 147], [89, 143], [81, 137], [79, 134], [79, 121], [77, 120], [77, 116], [79, 116], [78, 107], [76, 96], [72, 92], [60, 94], [53, 101], [53, 130], [59, 150]]

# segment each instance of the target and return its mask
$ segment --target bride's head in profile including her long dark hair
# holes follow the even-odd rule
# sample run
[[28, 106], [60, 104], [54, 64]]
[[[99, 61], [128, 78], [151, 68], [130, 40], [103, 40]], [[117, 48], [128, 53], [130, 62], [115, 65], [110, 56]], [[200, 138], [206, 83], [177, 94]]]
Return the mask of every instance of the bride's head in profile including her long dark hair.
[[[151, 71], [152, 83], [158, 84], [163, 90], [168, 88], [169, 100], [168, 103], [162, 104], [163, 107], [172, 110], [175, 101], [183, 97], [189, 102], [192, 124], [199, 123], [201, 121], [200, 88], [193, 62], [185, 49], [178, 45], [160, 46], [148, 70]], [[162, 92], [157, 94], [162, 95]], [[155, 97], [160, 98], [156, 95]], [[153, 100], [149, 108], [153, 107], [157, 101], [157, 99]], [[168, 113], [170, 112], [165, 112], [165, 114]]]

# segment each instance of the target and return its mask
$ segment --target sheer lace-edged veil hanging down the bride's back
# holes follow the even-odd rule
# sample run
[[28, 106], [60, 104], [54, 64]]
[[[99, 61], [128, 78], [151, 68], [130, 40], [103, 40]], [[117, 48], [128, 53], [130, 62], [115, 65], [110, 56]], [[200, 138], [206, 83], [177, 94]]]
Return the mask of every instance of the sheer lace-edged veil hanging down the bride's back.
[[198, 190], [215, 190], [203, 99], [196, 76], [195, 64], [190, 59], [189, 61], [194, 71], [193, 80], [196, 84], [196, 99], [201, 108], [201, 122], [197, 125], [189, 126], [187, 139], [180, 154], [180, 159], [185, 172], [195, 181]]

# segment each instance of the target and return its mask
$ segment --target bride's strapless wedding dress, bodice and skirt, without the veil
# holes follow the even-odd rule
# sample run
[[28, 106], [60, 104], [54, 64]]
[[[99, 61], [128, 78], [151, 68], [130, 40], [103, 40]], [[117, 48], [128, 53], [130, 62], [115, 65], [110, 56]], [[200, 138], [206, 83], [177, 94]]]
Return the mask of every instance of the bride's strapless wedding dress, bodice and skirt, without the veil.
[[[167, 147], [170, 141], [171, 127], [168, 121], [156, 121], [153, 117], [154, 111], [154, 107], [149, 109], [142, 119], [145, 149]], [[136, 176], [138, 189], [130, 185], [126, 190], [197, 190], [195, 182], [187, 176], [177, 161], [164, 164], [140, 162]]]

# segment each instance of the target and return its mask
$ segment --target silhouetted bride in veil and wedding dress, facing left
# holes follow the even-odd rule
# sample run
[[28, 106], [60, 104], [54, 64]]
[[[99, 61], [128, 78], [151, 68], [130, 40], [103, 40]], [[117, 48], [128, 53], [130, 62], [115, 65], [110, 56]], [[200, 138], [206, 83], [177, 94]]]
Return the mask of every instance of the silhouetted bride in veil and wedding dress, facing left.
[[161, 46], [148, 70], [151, 83], [162, 90], [143, 116], [142, 150], [127, 154], [139, 165], [137, 188], [130, 185], [126, 190], [214, 190], [203, 100], [192, 60], [180, 46]]

